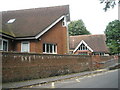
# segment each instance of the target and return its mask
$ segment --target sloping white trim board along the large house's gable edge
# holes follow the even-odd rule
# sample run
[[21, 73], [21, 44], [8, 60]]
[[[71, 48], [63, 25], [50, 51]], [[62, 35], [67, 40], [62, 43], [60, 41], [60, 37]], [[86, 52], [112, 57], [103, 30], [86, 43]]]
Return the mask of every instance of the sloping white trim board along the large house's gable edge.
[[38, 39], [40, 36], [42, 36], [44, 33], [46, 33], [50, 28], [52, 28], [55, 24], [57, 24], [63, 18], [64, 18], [64, 16], [61, 16], [54, 23], [52, 23], [50, 26], [48, 26], [45, 30], [43, 30], [41, 33], [39, 33], [38, 35], [36, 35], [35, 38]]

